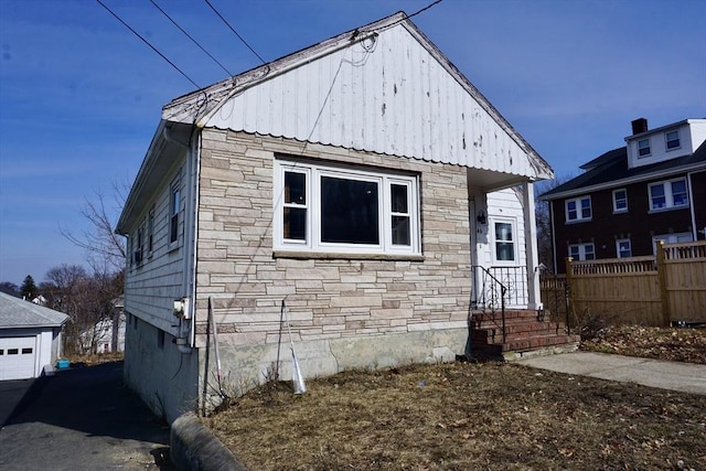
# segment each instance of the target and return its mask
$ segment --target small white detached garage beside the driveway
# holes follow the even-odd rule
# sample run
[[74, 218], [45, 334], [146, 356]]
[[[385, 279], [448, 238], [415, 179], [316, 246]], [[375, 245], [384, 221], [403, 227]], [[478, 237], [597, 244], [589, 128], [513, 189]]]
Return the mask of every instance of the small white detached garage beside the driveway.
[[0, 292], [0, 381], [41, 376], [62, 349], [68, 317]]

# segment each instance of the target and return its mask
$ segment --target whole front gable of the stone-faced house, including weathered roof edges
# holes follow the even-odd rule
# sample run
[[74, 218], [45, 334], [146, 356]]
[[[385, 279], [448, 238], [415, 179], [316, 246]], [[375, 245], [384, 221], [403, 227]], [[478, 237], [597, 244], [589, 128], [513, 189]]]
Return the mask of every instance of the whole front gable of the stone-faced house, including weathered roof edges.
[[179, 97], [162, 119], [553, 176], [404, 12]]

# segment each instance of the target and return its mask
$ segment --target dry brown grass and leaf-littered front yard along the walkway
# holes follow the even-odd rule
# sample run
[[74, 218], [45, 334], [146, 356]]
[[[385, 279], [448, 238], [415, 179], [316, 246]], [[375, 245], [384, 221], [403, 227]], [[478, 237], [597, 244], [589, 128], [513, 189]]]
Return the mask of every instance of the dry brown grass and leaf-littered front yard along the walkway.
[[[663, 339], [685, 335], [702, 345], [686, 356], [703, 361], [699, 332], [638, 331], [661, 339], [645, 355], [673, 360], [681, 346]], [[591, 350], [640, 352], [634, 335], [611, 335]], [[263, 386], [205, 422], [253, 470], [706, 469], [704, 396], [512, 363], [345, 372], [307, 387]]]

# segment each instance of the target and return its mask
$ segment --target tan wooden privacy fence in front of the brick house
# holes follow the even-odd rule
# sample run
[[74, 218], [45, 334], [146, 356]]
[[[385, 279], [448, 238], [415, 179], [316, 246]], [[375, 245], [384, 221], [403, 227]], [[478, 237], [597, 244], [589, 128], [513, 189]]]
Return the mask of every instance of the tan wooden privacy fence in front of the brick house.
[[706, 240], [657, 243], [656, 256], [574, 261], [542, 277], [542, 301], [555, 315], [602, 317], [612, 324], [706, 322]]

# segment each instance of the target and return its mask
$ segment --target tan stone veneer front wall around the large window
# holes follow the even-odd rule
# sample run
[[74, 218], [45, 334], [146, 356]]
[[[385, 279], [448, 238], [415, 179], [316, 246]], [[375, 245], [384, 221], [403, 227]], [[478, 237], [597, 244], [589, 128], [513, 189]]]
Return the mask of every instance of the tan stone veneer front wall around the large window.
[[[307, 376], [463, 353], [471, 289], [464, 168], [227, 130], [205, 129], [202, 138], [196, 343], [206, 344], [212, 297], [224, 371], [261, 381], [276, 357], [282, 299]], [[424, 259], [274, 258], [276, 152], [419, 173]]]

